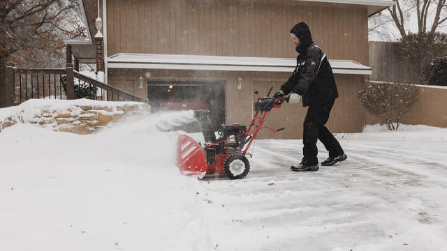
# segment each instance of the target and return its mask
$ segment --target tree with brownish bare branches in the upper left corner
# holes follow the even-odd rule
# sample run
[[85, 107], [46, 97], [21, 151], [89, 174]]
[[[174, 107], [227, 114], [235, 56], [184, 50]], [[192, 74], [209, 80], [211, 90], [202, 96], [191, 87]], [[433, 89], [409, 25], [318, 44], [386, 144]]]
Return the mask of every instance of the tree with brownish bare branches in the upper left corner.
[[32, 60], [22, 58], [36, 50], [64, 55], [54, 53], [64, 47], [64, 39], [81, 38], [85, 34], [80, 10], [75, 8], [78, 8], [75, 0], [2, 0], [0, 62], [29, 64]]

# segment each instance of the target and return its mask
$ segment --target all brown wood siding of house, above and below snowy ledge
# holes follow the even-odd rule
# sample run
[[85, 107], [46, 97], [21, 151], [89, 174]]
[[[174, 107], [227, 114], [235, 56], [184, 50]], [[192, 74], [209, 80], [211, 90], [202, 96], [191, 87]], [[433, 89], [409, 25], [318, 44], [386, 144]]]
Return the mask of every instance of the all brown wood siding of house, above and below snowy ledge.
[[[211, 56], [266, 56], [295, 58], [290, 29], [307, 22], [314, 42], [329, 59], [368, 63], [367, 7], [292, 0], [108, 0], [108, 55], [117, 53], [203, 54]], [[145, 69], [108, 70], [108, 83], [133, 88]], [[149, 70], [151, 80], [223, 81], [226, 123], [248, 125], [254, 114], [254, 91], [274, 91], [291, 73], [224, 72], [204, 70]], [[237, 79], [242, 77], [242, 89]], [[364, 75], [336, 75], [340, 97], [327, 123], [332, 132], [361, 132], [365, 110], [357, 93]], [[131, 86], [129, 86], [131, 85]], [[126, 87], [127, 86], [127, 87]], [[130, 89], [129, 89], [130, 90]], [[260, 139], [300, 139], [307, 108], [285, 104], [265, 121], [273, 133], [263, 130]]]

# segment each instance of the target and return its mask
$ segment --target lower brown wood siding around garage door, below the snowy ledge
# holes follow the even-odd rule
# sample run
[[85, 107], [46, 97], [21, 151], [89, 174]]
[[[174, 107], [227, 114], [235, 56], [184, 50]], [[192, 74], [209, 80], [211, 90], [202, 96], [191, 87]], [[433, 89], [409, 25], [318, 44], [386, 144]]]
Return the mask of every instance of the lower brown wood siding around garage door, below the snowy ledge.
[[[279, 89], [284, 84], [290, 73], [233, 73], [233, 72], [205, 72], [194, 70], [151, 70], [152, 81], [200, 81], [226, 83], [226, 123], [240, 123], [249, 125], [254, 115], [254, 91], [259, 91], [265, 96], [270, 86], [273, 90]], [[138, 77], [145, 76], [145, 70], [110, 69], [109, 82], [117, 88], [130, 91], [135, 89], [137, 95], [144, 95], [145, 89], [138, 89]], [[237, 89], [237, 79], [242, 77], [242, 89]], [[357, 98], [357, 93], [364, 86], [364, 77], [358, 75], [335, 75], [339, 98], [335, 101], [330, 118], [326, 126], [331, 132], [349, 133], [361, 132], [365, 124], [365, 109]], [[130, 87], [129, 87], [130, 86]], [[145, 86], [146, 88], [146, 86]], [[272, 94], [271, 94], [272, 95]], [[140, 96], [143, 98], [142, 96]], [[147, 97], [146, 97], [147, 98]], [[261, 130], [259, 139], [302, 139], [302, 123], [307, 112], [307, 107], [284, 104], [281, 109], [272, 109], [265, 121], [265, 126], [271, 128], [283, 128], [280, 132]]]

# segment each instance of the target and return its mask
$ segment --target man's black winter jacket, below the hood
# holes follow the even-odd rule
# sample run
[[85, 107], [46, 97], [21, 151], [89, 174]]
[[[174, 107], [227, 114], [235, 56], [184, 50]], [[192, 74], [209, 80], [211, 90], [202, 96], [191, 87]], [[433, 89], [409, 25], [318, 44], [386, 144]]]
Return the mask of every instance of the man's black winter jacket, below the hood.
[[303, 48], [296, 61], [293, 75], [281, 86], [285, 94], [298, 93], [302, 96], [302, 105], [305, 107], [338, 97], [332, 68], [320, 47], [311, 43]]

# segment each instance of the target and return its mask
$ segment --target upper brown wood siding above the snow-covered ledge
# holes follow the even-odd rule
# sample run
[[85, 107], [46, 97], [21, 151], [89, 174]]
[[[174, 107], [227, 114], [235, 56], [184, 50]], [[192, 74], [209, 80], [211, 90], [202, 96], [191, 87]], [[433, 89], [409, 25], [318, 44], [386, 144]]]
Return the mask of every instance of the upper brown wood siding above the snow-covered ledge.
[[108, 0], [108, 55], [120, 52], [295, 57], [307, 22], [330, 59], [368, 63], [367, 7], [307, 1]]

